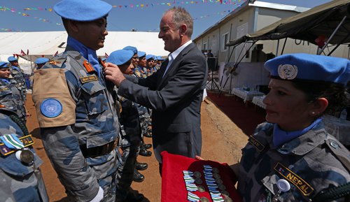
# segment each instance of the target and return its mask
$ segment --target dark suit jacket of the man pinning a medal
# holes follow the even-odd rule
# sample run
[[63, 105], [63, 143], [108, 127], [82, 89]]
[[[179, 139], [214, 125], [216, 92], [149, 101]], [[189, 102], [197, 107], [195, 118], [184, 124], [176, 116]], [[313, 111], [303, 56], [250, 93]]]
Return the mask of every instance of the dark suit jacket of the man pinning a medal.
[[162, 151], [195, 157], [202, 149], [200, 107], [207, 61], [196, 45], [190, 43], [163, 77], [168, 62], [165, 60], [160, 70], [146, 79], [127, 76], [118, 90], [121, 96], [153, 109], [153, 148], [160, 163]]

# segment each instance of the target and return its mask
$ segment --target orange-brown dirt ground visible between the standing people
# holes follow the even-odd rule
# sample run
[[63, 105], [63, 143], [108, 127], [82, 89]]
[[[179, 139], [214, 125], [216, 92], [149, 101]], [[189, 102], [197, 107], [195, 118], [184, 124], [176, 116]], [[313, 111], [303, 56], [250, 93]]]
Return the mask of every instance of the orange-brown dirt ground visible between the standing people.
[[[43, 144], [40, 140], [38, 121], [34, 104], [31, 101], [31, 94], [27, 96], [27, 110], [31, 117], [27, 120], [27, 127], [36, 143], [34, 148], [43, 159], [43, 165], [40, 166], [45, 180], [46, 189], [52, 202], [64, 202], [66, 194], [64, 187], [57, 179], [57, 174], [53, 170], [48, 157], [46, 157]], [[248, 137], [233, 123], [214, 103], [206, 99], [202, 103], [202, 157], [204, 159], [234, 164], [241, 157], [241, 148], [247, 143]], [[151, 138], [144, 138], [146, 143], [151, 143]], [[150, 149], [152, 152], [153, 150]], [[135, 192], [144, 194], [143, 202], [160, 201], [161, 178], [158, 171], [158, 162], [155, 157], [138, 157], [139, 162], [146, 162], [148, 169], [140, 171], [145, 175], [144, 182], [132, 183], [132, 189]]]

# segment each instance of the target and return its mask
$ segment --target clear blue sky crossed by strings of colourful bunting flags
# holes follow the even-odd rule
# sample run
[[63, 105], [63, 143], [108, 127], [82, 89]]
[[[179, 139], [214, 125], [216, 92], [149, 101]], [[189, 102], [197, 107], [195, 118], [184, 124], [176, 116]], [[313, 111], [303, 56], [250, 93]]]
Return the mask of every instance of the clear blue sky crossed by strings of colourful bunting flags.
[[[61, 19], [50, 11], [59, 0], [0, 0], [0, 32], [61, 31]], [[109, 31], [159, 31], [162, 14], [170, 6], [186, 8], [194, 18], [193, 38], [221, 20], [246, 0], [105, 0], [112, 6]], [[313, 8], [330, 0], [261, 0]], [[121, 8], [120, 8], [121, 6]], [[30, 9], [25, 9], [30, 8]]]

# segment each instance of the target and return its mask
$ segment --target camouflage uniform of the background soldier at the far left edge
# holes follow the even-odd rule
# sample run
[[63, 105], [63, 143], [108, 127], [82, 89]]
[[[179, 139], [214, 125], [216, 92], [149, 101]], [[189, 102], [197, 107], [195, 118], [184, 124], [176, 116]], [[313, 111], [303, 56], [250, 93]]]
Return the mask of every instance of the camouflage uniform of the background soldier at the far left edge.
[[26, 122], [25, 102], [13, 79], [0, 79], [0, 103], [9, 110], [15, 111], [22, 122]]

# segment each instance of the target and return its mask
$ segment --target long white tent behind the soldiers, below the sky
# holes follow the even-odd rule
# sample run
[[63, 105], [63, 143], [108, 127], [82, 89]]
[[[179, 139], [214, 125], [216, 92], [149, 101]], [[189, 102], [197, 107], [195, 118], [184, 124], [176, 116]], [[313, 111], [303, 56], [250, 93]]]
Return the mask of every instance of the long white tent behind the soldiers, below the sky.
[[[66, 31], [40, 31], [40, 32], [3, 32], [0, 33], [0, 61], [6, 61], [7, 57], [17, 54], [21, 50], [29, 55], [24, 59], [35, 61], [37, 57], [50, 58], [58, 51], [63, 52], [66, 48]], [[114, 50], [122, 49], [127, 45], [137, 47], [147, 54], [165, 56], [169, 52], [164, 50], [164, 42], [158, 38], [158, 32], [141, 31], [109, 31], [104, 41], [104, 48], [97, 50], [97, 55], [111, 54]], [[32, 66], [30, 62], [25, 64], [19, 59], [20, 66]], [[27, 71], [24, 68], [25, 71]], [[30, 73], [30, 72], [29, 72]]]

